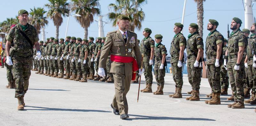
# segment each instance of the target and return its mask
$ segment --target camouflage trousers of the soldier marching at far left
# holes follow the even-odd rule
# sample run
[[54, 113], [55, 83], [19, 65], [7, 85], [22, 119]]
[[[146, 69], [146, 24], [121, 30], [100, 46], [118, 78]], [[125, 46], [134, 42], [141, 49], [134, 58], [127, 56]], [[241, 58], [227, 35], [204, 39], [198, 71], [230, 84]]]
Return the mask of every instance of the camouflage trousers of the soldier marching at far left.
[[30, 68], [33, 63], [33, 56], [20, 57], [13, 55], [12, 63], [12, 75], [15, 80], [15, 98], [18, 98], [24, 96], [28, 91], [28, 80], [31, 75]]

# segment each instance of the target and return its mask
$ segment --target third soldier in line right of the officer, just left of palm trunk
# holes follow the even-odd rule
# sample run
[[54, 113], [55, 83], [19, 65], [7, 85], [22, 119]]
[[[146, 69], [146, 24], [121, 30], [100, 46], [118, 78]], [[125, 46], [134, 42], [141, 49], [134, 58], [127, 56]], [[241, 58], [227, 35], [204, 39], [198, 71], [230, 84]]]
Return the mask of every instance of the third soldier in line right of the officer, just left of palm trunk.
[[175, 82], [175, 93], [169, 95], [171, 98], [182, 98], [181, 89], [183, 85], [182, 79], [182, 62], [184, 62], [184, 50], [186, 48], [187, 40], [180, 31], [182, 31], [183, 25], [181, 23], [175, 23], [173, 32], [175, 33], [171, 48], [171, 65], [172, 65], [172, 78]]

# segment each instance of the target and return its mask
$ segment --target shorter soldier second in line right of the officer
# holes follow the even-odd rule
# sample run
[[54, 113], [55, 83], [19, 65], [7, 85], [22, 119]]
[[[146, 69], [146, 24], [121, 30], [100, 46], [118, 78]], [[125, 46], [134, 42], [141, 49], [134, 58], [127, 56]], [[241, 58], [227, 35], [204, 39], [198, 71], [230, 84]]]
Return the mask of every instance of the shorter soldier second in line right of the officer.
[[161, 43], [163, 36], [160, 34], [155, 35], [156, 46], [154, 49], [155, 55], [155, 65], [154, 72], [156, 77], [157, 90], [153, 93], [155, 95], [163, 95], [164, 89], [164, 76], [165, 76], [165, 57], [166, 57], [166, 48]]

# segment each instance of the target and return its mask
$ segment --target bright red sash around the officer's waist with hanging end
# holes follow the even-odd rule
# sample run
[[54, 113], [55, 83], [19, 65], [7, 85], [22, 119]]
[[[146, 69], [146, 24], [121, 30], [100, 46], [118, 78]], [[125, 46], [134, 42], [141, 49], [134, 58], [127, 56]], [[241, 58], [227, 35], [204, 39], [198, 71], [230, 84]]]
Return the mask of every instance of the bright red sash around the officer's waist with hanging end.
[[132, 62], [132, 80], [135, 80], [136, 71], [139, 69], [137, 61], [133, 57], [116, 56], [110, 55], [110, 60], [120, 63], [131, 63]]

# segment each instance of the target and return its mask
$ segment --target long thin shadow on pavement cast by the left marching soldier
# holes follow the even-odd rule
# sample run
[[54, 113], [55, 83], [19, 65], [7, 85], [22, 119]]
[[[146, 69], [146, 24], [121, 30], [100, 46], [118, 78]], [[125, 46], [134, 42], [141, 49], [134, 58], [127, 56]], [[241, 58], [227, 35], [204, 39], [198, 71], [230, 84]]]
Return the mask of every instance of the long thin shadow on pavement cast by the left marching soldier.
[[[111, 113], [110, 111], [103, 110], [87, 110], [87, 109], [65, 109], [65, 108], [47, 108], [47, 107], [36, 107], [36, 106], [26, 106], [39, 109], [25, 109], [25, 110], [42, 110], [42, 111], [75, 111], [75, 112], [101, 112], [101, 113]], [[41, 109], [40, 109], [41, 108]]]

